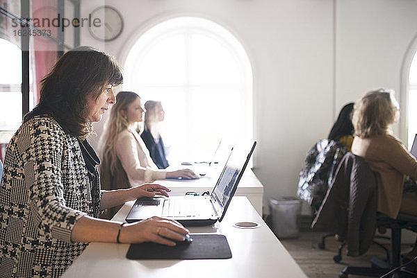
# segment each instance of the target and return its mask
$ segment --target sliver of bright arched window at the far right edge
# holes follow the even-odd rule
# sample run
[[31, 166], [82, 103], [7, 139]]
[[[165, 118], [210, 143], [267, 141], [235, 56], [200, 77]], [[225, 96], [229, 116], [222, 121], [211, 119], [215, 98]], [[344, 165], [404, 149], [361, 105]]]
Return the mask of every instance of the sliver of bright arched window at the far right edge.
[[417, 133], [417, 52], [411, 62], [408, 80], [408, 146], [411, 147]]

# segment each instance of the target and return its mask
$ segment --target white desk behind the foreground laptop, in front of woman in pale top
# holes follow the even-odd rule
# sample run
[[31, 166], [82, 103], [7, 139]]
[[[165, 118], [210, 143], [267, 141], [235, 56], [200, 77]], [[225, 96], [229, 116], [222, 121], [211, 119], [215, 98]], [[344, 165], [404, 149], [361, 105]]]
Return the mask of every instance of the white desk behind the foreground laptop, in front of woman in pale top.
[[[187, 191], [202, 194], [204, 191], [211, 192], [213, 190], [219, 175], [218, 171], [212, 171], [198, 180], [157, 180], [156, 183], [172, 189], [170, 196], [183, 196]], [[234, 196], [246, 196], [258, 214], [262, 215], [263, 185], [252, 169], [245, 170]]]

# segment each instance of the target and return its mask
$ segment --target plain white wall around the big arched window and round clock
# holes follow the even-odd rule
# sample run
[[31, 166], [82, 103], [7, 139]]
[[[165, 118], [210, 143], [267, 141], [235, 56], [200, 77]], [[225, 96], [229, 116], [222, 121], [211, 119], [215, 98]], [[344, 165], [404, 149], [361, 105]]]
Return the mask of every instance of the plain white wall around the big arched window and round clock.
[[90, 0], [82, 17], [104, 3], [122, 12], [122, 35], [103, 44], [83, 28], [81, 44], [121, 62], [140, 33], [175, 16], [211, 19], [240, 40], [254, 72], [254, 168], [266, 211], [268, 198], [295, 196], [306, 152], [345, 103], [375, 87], [400, 92], [417, 33], [411, 0]]

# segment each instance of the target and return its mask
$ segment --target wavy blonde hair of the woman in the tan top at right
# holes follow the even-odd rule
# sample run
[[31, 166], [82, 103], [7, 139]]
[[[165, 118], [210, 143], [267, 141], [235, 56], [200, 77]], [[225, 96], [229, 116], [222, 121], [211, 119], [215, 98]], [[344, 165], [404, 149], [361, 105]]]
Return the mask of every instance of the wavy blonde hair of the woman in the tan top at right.
[[391, 125], [400, 116], [393, 91], [370, 91], [355, 103], [352, 116], [354, 134], [361, 138], [389, 134]]

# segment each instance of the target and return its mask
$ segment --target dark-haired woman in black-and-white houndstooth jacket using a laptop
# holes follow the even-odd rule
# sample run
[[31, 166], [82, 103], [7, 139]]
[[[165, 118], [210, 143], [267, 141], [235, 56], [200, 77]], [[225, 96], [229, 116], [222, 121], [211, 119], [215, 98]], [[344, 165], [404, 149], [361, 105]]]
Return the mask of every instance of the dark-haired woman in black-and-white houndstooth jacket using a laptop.
[[163, 218], [128, 225], [97, 218], [109, 207], [169, 191], [158, 184], [100, 189], [99, 159], [86, 138], [122, 81], [110, 55], [85, 46], [65, 53], [42, 79], [39, 104], [6, 149], [0, 277], [60, 277], [92, 241], [175, 245], [188, 233]]

